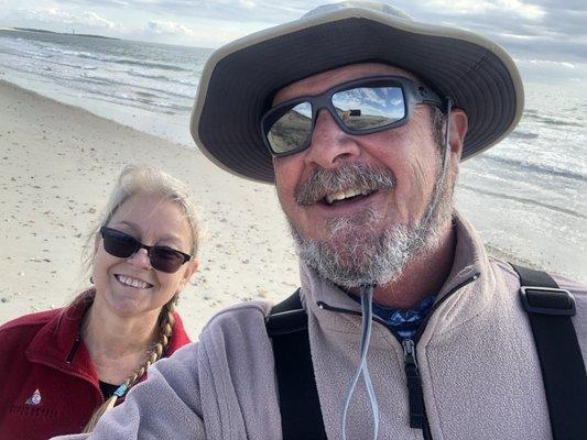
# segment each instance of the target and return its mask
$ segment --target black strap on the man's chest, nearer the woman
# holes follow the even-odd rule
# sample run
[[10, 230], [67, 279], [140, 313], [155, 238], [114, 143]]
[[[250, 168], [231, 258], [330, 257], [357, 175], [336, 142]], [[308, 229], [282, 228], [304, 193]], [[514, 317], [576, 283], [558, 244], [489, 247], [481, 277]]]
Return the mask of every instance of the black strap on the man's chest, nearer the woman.
[[265, 318], [273, 340], [283, 440], [326, 439], [300, 289]]

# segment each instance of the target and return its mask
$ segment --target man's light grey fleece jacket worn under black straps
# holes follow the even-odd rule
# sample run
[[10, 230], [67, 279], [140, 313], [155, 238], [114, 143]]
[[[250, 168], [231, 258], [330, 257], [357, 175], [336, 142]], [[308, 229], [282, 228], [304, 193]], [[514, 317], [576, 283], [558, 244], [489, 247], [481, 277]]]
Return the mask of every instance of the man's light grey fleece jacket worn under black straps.
[[[450, 276], [421, 336], [416, 356], [435, 440], [551, 439], [544, 387], [520, 282], [488, 257], [470, 227], [456, 218]], [[312, 359], [326, 432], [340, 438], [340, 410], [358, 362], [359, 305], [302, 266]], [[575, 295], [573, 318], [587, 356], [587, 289], [556, 277]], [[322, 305], [319, 307], [318, 305]], [[264, 326], [271, 306], [246, 302], [219, 312], [199, 342], [154, 364], [124, 404], [91, 436], [59, 439], [281, 439], [273, 353]], [[373, 322], [368, 365], [380, 408], [379, 439], [422, 439], [409, 424], [401, 343]], [[371, 414], [362, 381], [351, 400], [348, 438], [369, 438]]]

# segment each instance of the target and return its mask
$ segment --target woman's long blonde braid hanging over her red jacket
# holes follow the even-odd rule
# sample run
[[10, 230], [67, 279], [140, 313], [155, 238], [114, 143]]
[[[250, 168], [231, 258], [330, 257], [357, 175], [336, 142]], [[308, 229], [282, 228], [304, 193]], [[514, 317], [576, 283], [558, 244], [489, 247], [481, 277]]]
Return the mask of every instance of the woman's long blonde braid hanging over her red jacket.
[[[175, 323], [174, 312], [175, 312], [175, 305], [177, 304], [177, 294], [174, 295], [174, 297], [161, 309], [161, 314], [159, 316], [159, 342], [153, 345], [153, 348], [149, 351], [149, 354], [146, 356], [146, 360], [144, 363], [134, 371], [127, 380], [120, 385], [120, 387], [117, 389], [117, 392], [106, 399], [106, 402], [94, 411], [91, 415], [88, 424], [84, 428], [83, 433], [89, 433], [94, 431], [94, 428], [96, 428], [96, 425], [98, 425], [98, 420], [100, 417], [110, 408], [113, 408], [116, 405], [116, 402], [119, 397], [123, 396], [128, 389], [130, 389], [137, 381], [139, 381], [149, 366], [154, 364], [156, 361], [159, 361], [163, 354], [167, 350], [167, 345], [170, 344], [171, 337], [173, 334], [173, 324]], [[118, 394], [120, 391], [120, 395]]]

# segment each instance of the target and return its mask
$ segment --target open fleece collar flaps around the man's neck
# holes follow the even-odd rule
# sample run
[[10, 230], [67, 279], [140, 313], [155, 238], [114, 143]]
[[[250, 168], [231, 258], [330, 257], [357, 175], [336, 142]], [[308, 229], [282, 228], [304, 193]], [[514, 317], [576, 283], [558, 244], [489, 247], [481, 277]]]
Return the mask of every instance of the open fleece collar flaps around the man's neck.
[[[453, 268], [446, 278], [443, 287], [438, 292], [436, 301], [452, 294], [455, 289], [469, 292], [474, 285], [477, 288], [488, 283], [487, 267], [488, 260], [483, 244], [471, 224], [458, 212], [453, 217], [456, 230], [456, 249]], [[320, 315], [320, 305], [327, 305], [330, 309], [340, 309], [360, 315], [360, 305], [348, 297], [338, 286], [320, 277], [313, 268], [301, 262], [302, 300], [306, 309], [313, 309], [316, 315]], [[479, 286], [481, 278], [482, 286]], [[466, 284], [465, 287], [459, 286]], [[487, 290], [482, 288], [481, 290]], [[463, 319], [466, 319], [463, 317]]]

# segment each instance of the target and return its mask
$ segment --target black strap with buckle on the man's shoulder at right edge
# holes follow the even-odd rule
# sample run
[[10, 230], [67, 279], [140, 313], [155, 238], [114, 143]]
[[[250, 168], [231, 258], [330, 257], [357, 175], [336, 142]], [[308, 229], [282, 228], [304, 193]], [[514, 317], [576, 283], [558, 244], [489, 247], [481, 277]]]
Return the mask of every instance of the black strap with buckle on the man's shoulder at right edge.
[[570, 321], [575, 299], [545, 272], [512, 266], [536, 343], [553, 438], [587, 439], [587, 375]]

